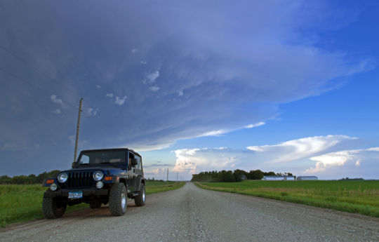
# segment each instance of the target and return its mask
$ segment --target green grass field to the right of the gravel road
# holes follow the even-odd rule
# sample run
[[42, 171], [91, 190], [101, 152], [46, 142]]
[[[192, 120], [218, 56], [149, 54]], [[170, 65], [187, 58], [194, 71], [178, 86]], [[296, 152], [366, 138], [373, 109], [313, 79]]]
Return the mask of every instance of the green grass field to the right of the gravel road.
[[197, 186], [379, 217], [379, 181], [196, 182]]

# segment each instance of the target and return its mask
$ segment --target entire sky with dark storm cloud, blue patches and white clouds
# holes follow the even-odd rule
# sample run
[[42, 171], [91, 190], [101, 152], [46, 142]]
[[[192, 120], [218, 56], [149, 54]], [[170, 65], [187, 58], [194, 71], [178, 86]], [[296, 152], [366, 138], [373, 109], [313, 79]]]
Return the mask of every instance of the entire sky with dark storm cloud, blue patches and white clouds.
[[377, 1], [1, 1], [0, 175], [128, 147], [145, 177], [379, 179]]

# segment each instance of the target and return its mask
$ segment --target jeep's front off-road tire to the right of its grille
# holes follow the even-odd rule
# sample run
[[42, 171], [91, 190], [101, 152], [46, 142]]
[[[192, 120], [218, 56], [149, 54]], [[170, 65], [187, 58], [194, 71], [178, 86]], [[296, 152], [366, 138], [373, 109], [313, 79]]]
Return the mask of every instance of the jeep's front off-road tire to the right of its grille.
[[124, 183], [120, 182], [112, 185], [109, 191], [109, 210], [111, 215], [124, 215], [128, 206], [127, 198], [128, 194]]

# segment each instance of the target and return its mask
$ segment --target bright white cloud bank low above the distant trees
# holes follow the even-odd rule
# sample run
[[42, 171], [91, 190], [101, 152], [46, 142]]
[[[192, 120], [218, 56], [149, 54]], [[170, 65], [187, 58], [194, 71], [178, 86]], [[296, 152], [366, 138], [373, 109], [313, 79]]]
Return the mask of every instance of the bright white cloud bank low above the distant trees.
[[[349, 147], [359, 144], [357, 137], [347, 135], [327, 135], [304, 137], [288, 140], [279, 144], [251, 146], [248, 149], [231, 149], [216, 147], [212, 149], [177, 149], [175, 152], [175, 171], [185, 174], [190, 179], [193, 173], [207, 170], [265, 170], [274, 172], [291, 172], [295, 175], [307, 173], [324, 174], [331, 167], [342, 167], [347, 161], [361, 165], [365, 159], [352, 156], [354, 150]], [[366, 152], [376, 152], [375, 148]], [[369, 156], [368, 156], [369, 157]], [[372, 158], [372, 157], [371, 157]], [[314, 161], [316, 161], [315, 167]], [[357, 168], [357, 166], [354, 166]], [[334, 173], [338, 174], [337, 172]], [[341, 174], [343, 172], [341, 171]], [[344, 177], [344, 175], [340, 175]], [[333, 178], [333, 177], [332, 177]]]

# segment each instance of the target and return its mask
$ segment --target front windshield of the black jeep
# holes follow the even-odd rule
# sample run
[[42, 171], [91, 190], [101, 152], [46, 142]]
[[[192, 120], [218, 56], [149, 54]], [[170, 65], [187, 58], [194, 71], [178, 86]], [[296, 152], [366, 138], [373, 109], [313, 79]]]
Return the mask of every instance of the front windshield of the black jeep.
[[125, 163], [125, 154], [126, 152], [122, 151], [81, 152], [78, 164], [101, 166], [101, 164]]

